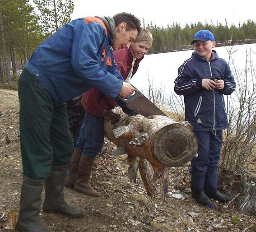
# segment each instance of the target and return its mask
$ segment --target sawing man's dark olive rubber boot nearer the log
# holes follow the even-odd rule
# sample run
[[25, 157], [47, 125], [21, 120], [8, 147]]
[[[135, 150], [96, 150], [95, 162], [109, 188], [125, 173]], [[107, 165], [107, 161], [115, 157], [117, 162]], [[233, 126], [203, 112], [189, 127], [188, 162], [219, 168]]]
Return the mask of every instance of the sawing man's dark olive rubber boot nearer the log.
[[83, 211], [64, 200], [66, 166], [52, 167], [50, 177], [45, 180], [45, 200], [43, 211], [61, 213], [68, 217], [80, 218]]

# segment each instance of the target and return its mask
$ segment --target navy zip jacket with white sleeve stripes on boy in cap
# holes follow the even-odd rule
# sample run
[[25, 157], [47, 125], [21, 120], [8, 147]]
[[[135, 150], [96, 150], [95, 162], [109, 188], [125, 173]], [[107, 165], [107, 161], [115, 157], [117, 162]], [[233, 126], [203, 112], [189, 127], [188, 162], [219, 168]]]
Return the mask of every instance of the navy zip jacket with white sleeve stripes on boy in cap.
[[[224, 95], [235, 91], [236, 83], [228, 63], [219, 58], [213, 50], [211, 61], [199, 56], [195, 51], [178, 70], [174, 91], [184, 96], [185, 120], [194, 130], [211, 131], [228, 128], [228, 117], [225, 109]], [[224, 88], [206, 90], [202, 88], [202, 79], [220, 76]]]

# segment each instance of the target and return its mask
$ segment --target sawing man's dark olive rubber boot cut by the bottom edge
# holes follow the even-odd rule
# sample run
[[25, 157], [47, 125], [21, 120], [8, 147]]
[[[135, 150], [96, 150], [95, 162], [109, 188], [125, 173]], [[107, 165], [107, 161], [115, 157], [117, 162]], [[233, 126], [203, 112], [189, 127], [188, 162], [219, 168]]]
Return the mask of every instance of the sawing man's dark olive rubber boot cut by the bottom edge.
[[50, 232], [39, 215], [43, 183], [44, 180], [32, 180], [23, 176], [17, 224], [20, 232]]

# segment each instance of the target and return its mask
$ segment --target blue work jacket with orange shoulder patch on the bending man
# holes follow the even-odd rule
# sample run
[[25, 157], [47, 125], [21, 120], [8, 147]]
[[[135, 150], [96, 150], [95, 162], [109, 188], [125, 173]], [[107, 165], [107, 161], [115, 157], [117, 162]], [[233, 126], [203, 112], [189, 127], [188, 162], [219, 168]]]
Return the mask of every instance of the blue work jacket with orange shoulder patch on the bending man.
[[113, 58], [113, 37], [102, 19], [86, 17], [65, 24], [37, 47], [25, 68], [57, 102], [90, 88], [116, 98], [123, 78]]

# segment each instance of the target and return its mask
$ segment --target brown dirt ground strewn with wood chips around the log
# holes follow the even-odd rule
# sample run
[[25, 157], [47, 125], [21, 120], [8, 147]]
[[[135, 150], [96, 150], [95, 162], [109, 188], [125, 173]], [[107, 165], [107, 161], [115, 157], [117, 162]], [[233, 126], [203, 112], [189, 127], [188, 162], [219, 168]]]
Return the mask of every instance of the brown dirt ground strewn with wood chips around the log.
[[[106, 140], [98, 167], [93, 169], [92, 185], [102, 197], [92, 198], [65, 188], [66, 200], [83, 208], [85, 216], [74, 219], [42, 213], [49, 229], [54, 232], [242, 232], [256, 223], [255, 217], [237, 211], [238, 199], [229, 205], [214, 202], [212, 209], [196, 204], [190, 195], [189, 164], [172, 168], [165, 203], [160, 195], [147, 196], [140, 176], [136, 184], [128, 179], [126, 157], [110, 155], [114, 147]], [[21, 182], [18, 94], [0, 88], [0, 231], [5, 231], [11, 209], [18, 216]], [[232, 189], [228, 191], [233, 197], [236, 195]], [[256, 230], [251, 227], [246, 231]]]

